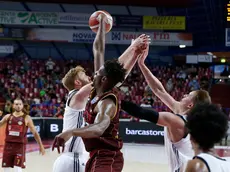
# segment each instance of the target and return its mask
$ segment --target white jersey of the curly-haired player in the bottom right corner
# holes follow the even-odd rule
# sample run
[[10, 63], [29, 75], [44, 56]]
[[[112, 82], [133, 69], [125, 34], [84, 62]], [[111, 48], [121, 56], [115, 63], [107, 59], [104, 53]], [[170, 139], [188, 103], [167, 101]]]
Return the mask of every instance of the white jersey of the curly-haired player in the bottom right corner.
[[230, 162], [225, 159], [207, 153], [201, 153], [193, 159], [200, 159], [204, 162], [208, 168], [208, 172], [230, 172]]

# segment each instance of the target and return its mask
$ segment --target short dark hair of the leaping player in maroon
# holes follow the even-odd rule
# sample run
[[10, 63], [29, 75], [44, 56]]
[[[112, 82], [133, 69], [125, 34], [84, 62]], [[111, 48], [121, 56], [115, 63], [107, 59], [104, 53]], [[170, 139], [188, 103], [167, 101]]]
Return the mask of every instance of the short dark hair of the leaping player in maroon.
[[109, 79], [109, 87], [114, 87], [117, 83], [123, 82], [126, 70], [117, 59], [107, 60], [104, 64], [105, 75]]

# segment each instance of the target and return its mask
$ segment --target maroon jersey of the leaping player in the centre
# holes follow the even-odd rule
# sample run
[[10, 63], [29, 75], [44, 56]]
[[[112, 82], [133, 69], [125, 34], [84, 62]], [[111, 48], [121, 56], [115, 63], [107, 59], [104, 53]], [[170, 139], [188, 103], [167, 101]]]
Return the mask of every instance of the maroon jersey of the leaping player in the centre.
[[98, 102], [105, 98], [111, 98], [114, 100], [116, 104], [117, 110], [114, 116], [110, 120], [109, 127], [105, 130], [105, 132], [98, 138], [90, 138], [86, 139], [83, 138], [85, 143], [85, 148], [88, 152], [98, 149], [108, 149], [112, 151], [120, 150], [123, 146], [122, 140], [118, 136], [119, 130], [119, 111], [120, 111], [120, 104], [119, 104], [119, 97], [117, 96], [117, 90], [112, 90], [109, 92], [104, 93], [101, 96], [96, 96], [96, 91], [93, 89], [91, 91], [88, 103], [86, 105], [86, 111], [84, 114], [85, 121], [88, 124], [93, 124], [96, 118], [96, 113], [94, 113], [94, 108], [97, 106]]

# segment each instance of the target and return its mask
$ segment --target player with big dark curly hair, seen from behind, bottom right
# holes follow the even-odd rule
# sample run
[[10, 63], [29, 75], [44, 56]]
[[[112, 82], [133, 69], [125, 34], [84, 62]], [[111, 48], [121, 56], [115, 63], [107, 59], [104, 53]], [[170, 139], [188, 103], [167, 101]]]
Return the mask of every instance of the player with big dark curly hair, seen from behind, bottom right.
[[214, 145], [228, 130], [228, 118], [215, 105], [199, 104], [189, 113], [186, 124], [195, 151], [186, 172], [229, 172], [230, 162], [216, 155]]

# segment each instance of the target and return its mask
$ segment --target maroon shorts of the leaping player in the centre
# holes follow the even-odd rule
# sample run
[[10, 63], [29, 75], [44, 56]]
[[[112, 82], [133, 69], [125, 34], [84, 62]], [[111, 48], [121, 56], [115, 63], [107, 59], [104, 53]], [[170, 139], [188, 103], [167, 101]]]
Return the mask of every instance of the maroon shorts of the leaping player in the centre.
[[121, 151], [97, 150], [90, 153], [85, 172], [121, 172], [123, 165]]

